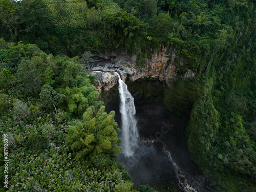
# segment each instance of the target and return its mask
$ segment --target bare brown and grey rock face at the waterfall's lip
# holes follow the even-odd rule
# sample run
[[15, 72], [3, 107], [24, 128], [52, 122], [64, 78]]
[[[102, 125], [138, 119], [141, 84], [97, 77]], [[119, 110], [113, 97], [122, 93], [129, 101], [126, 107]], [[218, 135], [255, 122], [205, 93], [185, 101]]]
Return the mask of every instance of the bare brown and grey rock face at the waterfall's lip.
[[[118, 76], [114, 72], [120, 74], [122, 80], [135, 81], [143, 77], [158, 78], [160, 81], [167, 83], [170, 86], [169, 79], [177, 77], [177, 66], [181, 66], [188, 60], [185, 57], [177, 56], [176, 49], [171, 48], [166, 50], [164, 45], [161, 49], [155, 52], [150, 59], [147, 59], [146, 65], [143, 68], [136, 69], [137, 56], [129, 57], [125, 53], [105, 53], [97, 55], [98, 60], [89, 60], [88, 72], [96, 75], [99, 81], [97, 90], [99, 92], [108, 91], [118, 84]], [[195, 72], [188, 70], [184, 77], [189, 78], [195, 76]]]

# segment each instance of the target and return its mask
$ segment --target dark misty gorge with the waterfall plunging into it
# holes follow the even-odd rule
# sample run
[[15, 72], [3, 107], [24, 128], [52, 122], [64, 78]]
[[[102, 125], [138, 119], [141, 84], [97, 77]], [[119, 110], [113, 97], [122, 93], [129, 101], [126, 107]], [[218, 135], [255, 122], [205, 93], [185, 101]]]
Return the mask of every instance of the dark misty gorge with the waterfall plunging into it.
[[[136, 122], [138, 122], [137, 127], [140, 137], [138, 141], [133, 134], [135, 128], [133, 124], [134, 117], [131, 118], [131, 133], [125, 133], [125, 130], [129, 130], [129, 127], [126, 126], [129, 123], [123, 117], [124, 101], [126, 99], [126, 101], [132, 100], [133, 102], [133, 98], [130, 94], [126, 94], [127, 98], [123, 98], [122, 89], [124, 87], [127, 89], [127, 86], [121, 81], [119, 74], [116, 75], [119, 77], [120, 96], [116, 91], [117, 86], [109, 90], [105, 97], [110, 98], [108, 95], [111, 95], [112, 99], [106, 103], [106, 111], [114, 110], [117, 112], [115, 120], [121, 128], [120, 137], [122, 142], [120, 145], [123, 148], [123, 152], [118, 155], [118, 159], [131, 174], [135, 187], [141, 184], [149, 184], [158, 191], [166, 192], [173, 191], [174, 188], [186, 192], [208, 191], [202, 183], [195, 179], [194, 168], [191, 165], [184, 142], [184, 125], [187, 117], [170, 118], [170, 113], [163, 108], [163, 104], [155, 102], [155, 96], [145, 99], [141, 96], [145, 93], [138, 94], [139, 92], [150, 92], [150, 90], [146, 90], [147, 87], [157, 87], [158, 93], [161, 93], [161, 90], [166, 89], [167, 86], [159, 80], [144, 80], [142, 82], [137, 80], [138, 82], [129, 83], [128, 88], [135, 95]], [[144, 87], [144, 91], [136, 90], [138, 86]], [[120, 99], [118, 99], [119, 97]], [[131, 106], [126, 104], [126, 113], [128, 114], [129, 109], [131, 109]], [[119, 110], [120, 114], [118, 113]], [[127, 147], [129, 145], [127, 139], [129, 138], [130, 142], [136, 143], [136, 147]], [[127, 153], [127, 148], [133, 151]], [[172, 155], [168, 150], [172, 152]], [[173, 158], [179, 165], [176, 164]]]

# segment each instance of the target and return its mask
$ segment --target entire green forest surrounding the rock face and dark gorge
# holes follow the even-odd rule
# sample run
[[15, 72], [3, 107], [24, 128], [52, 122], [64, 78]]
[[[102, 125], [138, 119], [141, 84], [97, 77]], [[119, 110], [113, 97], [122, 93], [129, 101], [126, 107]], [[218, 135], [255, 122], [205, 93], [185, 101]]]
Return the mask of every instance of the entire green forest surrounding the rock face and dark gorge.
[[118, 162], [116, 112], [84, 53], [125, 50], [139, 69], [162, 44], [188, 58], [163, 102], [191, 111], [198, 175], [212, 191], [255, 191], [255, 31], [252, 0], [0, 0], [0, 191], [156, 191], [134, 189]]

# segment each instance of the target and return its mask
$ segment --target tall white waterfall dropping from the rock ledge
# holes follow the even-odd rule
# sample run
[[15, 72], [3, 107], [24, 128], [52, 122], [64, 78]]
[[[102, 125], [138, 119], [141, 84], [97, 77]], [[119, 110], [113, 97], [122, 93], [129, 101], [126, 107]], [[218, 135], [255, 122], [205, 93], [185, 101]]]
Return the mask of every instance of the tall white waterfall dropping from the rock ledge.
[[134, 98], [127, 90], [126, 84], [122, 81], [120, 75], [118, 75], [119, 83], [119, 96], [120, 96], [120, 113], [121, 113], [121, 147], [122, 153], [126, 156], [132, 156], [134, 149], [137, 146], [139, 134], [137, 131], [137, 121], [135, 119], [135, 105]]

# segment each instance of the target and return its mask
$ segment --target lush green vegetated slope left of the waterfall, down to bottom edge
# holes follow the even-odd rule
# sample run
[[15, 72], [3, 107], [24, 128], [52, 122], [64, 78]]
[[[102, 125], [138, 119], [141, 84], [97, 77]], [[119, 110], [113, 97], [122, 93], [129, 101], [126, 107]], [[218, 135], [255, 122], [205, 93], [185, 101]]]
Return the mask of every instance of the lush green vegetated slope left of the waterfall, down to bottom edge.
[[[115, 156], [121, 150], [115, 112], [108, 115], [102, 106], [92, 118], [101, 101], [82, 61], [47, 55], [35, 45], [1, 43], [0, 176], [3, 180], [2, 135], [7, 134], [8, 190], [116, 191], [133, 186]], [[81, 126], [86, 130], [73, 135]]]

